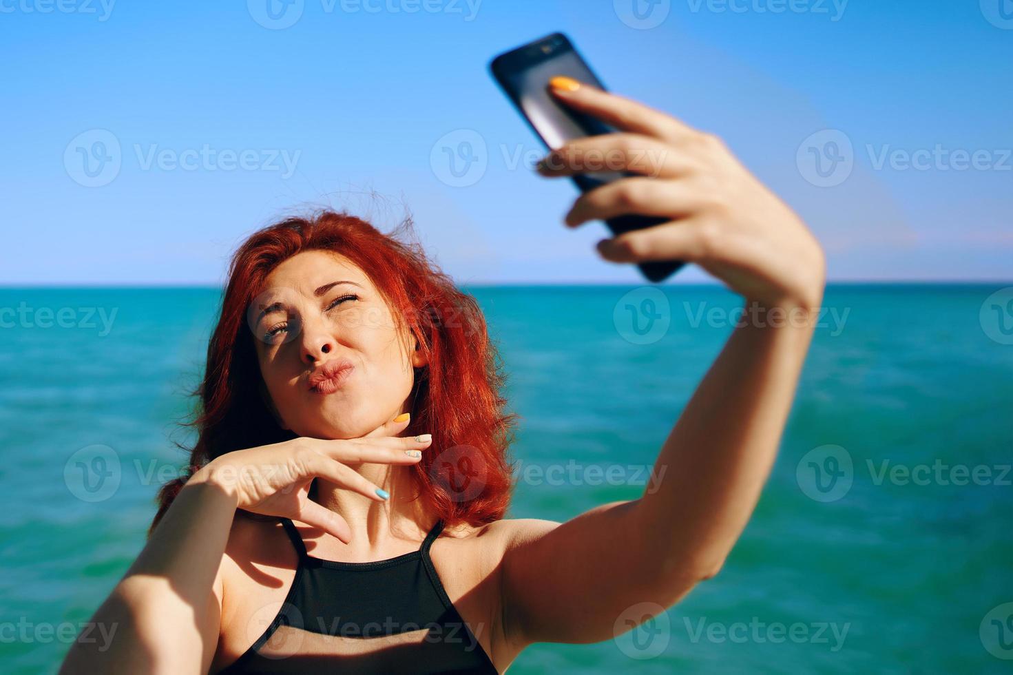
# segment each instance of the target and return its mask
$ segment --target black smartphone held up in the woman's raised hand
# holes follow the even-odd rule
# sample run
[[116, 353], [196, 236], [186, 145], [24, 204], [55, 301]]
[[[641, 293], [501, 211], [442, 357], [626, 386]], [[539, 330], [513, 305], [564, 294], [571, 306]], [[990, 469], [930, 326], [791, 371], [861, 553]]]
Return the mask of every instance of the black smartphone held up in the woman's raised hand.
[[[602, 81], [561, 32], [500, 54], [489, 64], [492, 77], [499, 83], [531, 129], [548, 149], [558, 148], [566, 141], [583, 136], [599, 136], [617, 131], [604, 122], [570, 109], [558, 102], [548, 91], [549, 80], [556, 75], [572, 77], [605, 89]], [[595, 171], [573, 176], [581, 192], [588, 192], [612, 180], [635, 175], [629, 171]], [[605, 221], [613, 234], [659, 225], [671, 219], [628, 215]], [[683, 267], [680, 260], [651, 260], [637, 267], [651, 282], [660, 282]]]

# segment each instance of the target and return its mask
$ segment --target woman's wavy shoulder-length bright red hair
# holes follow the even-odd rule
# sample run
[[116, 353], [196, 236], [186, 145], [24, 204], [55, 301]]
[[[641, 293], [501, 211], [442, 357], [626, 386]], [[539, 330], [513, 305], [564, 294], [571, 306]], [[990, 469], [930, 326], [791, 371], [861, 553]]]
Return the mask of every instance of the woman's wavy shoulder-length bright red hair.
[[[427, 358], [427, 366], [415, 369], [411, 422], [404, 432], [433, 434], [431, 451], [410, 468], [415, 498], [448, 527], [503, 517], [514, 485], [506, 450], [517, 415], [503, 411], [502, 364], [475, 299], [430, 261], [416, 241], [396, 238], [400, 229], [410, 228], [406, 219], [388, 235], [355, 216], [323, 211], [264, 227], [239, 246], [229, 266], [203, 381], [192, 392], [199, 398], [194, 418], [184, 423], [198, 430], [193, 447], [183, 448], [189, 452], [188, 470], [162, 485], [149, 536], [197, 469], [233, 450], [296, 437], [276, 422], [260, 395], [262, 378], [246, 310], [277, 266], [313, 249], [334, 251], [362, 269], [398, 326], [410, 329]], [[452, 465], [464, 460], [479, 467], [481, 489], [472, 484], [462, 493], [449, 483], [452, 476], [445, 477], [435, 464], [447, 456], [453, 457]]]

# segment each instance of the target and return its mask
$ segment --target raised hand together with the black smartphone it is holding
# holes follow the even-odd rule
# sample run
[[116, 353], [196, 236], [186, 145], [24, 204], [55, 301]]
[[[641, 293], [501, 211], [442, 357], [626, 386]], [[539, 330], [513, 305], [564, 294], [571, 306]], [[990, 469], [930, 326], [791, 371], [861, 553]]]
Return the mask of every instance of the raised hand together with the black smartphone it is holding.
[[[569, 44], [558, 34], [546, 40], [548, 44], [535, 45], [550, 54]], [[524, 60], [537, 61], [522, 49]], [[565, 54], [574, 67], [575, 54]], [[587, 79], [557, 80], [550, 94], [544, 85], [565, 75], [557, 68], [566, 64], [515, 69], [514, 58], [497, 59], [493, 72], [532, 127], [557, 148], [539, 172], [594, 185], [573, 204], [567, 224], [604, 220], [616, 228], [617, 217], [628, 214], [660, 222], [600, 241], [602, 257], [635, 262], [650, 281], [678, 269], [680, 262], [671, 260], [686, 260], [724, 282], [750, 305], [819, 316], [827, 273], [820, 242], [721, 139]], [[620, 169], [634, 169], [633, 175], [620, 170], [589, 176], [587, 166], [574, 165], [574, 159], [610, 155], [619, 158]]]

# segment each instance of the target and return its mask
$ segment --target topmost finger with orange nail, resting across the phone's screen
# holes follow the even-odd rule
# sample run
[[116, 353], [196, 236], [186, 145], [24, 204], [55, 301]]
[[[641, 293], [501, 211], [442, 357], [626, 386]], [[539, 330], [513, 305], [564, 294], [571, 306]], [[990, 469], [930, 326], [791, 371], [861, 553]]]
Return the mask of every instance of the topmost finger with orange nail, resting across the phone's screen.
[[549, 81], [549, 91], [570, 107], [622, 131], [667, 140], [698, 133], [667, 113], [569, 77], [552, 78]]

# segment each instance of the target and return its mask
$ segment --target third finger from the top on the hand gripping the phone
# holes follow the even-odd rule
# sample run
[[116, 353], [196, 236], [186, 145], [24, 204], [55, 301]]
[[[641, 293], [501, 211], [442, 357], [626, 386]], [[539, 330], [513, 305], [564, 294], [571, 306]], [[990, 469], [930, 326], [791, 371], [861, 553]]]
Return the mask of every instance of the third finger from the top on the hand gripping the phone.
[[576, 227], [589, 220], [608, 220], [627, 214], [677, 218], [701, 206], [698, 195], [686, 180], [623, 178], [581, 195], [563, 220], [568, 227]]

